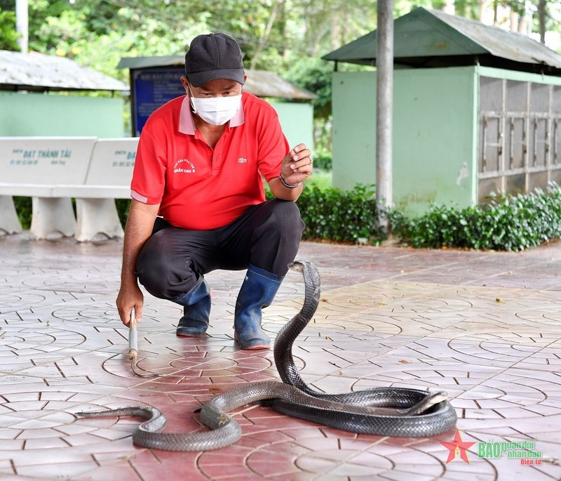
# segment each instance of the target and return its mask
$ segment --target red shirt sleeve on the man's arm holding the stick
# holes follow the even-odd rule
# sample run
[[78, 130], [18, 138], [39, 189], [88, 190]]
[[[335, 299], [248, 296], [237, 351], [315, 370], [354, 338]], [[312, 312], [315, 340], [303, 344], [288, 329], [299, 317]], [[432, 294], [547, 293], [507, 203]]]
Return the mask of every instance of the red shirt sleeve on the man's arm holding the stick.
[[165, 187], [165, 152], [154, 136], [143, 129], [130, 183], [130, 196], [143, 204], [159, 204]]

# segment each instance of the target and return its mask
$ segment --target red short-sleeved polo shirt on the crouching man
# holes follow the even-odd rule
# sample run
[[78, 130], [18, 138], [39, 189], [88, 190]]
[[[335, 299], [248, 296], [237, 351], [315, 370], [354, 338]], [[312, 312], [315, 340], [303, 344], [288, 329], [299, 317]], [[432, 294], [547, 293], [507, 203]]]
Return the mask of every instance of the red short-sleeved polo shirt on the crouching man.
[[149, 117], [135, 159], [131, 196], [160, 204], [172, 225], [208, 230], [264, 202], [264, 177], [278, 176], [290, 151], [276, 111], [243, 92], [242, 107], [212, 149], [196, 130], [187, 95]]

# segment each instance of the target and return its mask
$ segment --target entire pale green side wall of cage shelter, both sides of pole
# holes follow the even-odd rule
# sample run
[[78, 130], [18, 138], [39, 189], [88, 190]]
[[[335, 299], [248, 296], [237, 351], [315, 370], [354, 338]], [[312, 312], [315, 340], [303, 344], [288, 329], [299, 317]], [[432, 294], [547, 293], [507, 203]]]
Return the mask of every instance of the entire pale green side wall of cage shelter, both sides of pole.
[[[431, 203], [473, 203], [475, 67], [395, 70], [393, 205], [409, 215]], [[376, 181], [376, 72], [335, 72], [333, 185]]]

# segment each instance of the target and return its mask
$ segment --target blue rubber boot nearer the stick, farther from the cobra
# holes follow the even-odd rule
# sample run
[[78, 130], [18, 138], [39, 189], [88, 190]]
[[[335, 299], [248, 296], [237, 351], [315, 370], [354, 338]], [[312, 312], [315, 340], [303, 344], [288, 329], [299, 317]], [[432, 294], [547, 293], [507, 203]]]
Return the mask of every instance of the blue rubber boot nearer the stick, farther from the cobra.
[[210, 316], [210, 288], [201, 275], [198, 282], [187, 294], [182, 294], [174, 302], [183, 306], [183, 317], [177, 324], [177, 336], [201, 336], [208, 328]]

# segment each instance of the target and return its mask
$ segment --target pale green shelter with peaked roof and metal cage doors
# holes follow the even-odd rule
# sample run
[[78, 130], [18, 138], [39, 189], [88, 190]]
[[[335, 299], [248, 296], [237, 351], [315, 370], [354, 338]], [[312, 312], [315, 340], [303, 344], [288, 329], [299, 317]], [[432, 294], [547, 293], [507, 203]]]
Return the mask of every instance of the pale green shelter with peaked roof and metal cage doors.
[[[533, 39], [426, 8], [395, 20], [393, 201], [410, 215], [492, 192], [561, 183], [561, 55]], [[377, 32], [325, 55], [334, 186], [375, 183]], [[360, 119], [360, 121], [357, 121]]]

